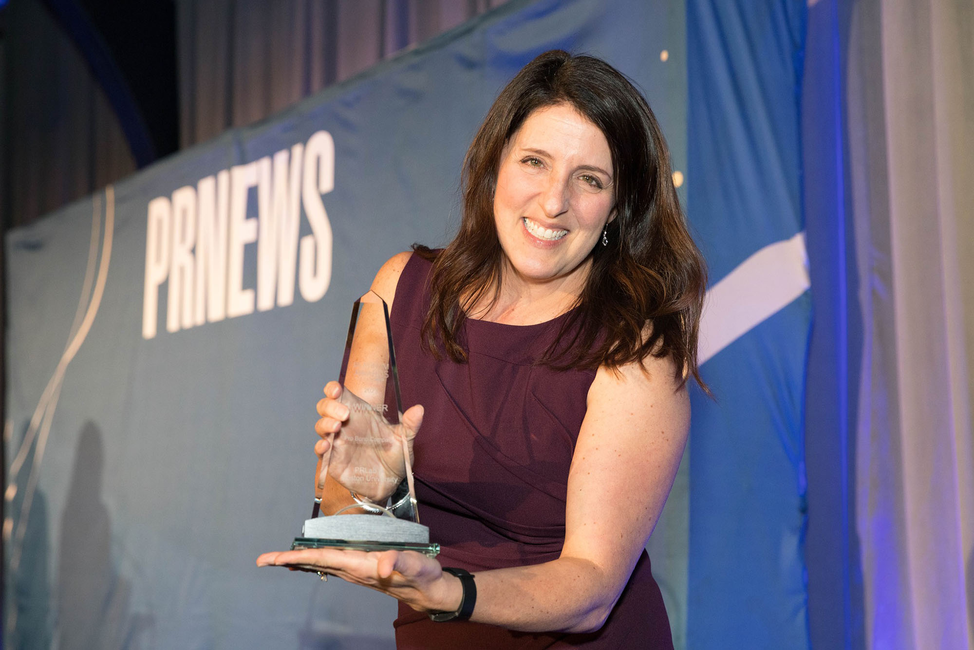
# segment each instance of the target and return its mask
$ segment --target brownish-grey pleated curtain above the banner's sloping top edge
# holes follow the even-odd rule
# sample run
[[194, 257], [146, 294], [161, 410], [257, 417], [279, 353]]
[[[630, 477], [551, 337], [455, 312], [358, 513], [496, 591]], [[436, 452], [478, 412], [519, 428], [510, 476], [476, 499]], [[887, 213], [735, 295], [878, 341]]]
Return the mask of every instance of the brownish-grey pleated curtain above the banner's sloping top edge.
[[506, 0], [178, 0], [180, 146], [247, 126]]

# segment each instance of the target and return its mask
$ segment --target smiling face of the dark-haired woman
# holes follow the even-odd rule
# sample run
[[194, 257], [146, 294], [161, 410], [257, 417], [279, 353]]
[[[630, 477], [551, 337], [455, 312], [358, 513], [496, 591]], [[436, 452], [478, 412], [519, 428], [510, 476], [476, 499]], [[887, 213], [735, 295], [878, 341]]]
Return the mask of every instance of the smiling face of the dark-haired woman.
[[588, 255], [615, 216], [612, 171], [605, 135], [570, 104], [528, 116], [504, 148], [494, 195], [508, 279], [569, 280], [581, 290]]

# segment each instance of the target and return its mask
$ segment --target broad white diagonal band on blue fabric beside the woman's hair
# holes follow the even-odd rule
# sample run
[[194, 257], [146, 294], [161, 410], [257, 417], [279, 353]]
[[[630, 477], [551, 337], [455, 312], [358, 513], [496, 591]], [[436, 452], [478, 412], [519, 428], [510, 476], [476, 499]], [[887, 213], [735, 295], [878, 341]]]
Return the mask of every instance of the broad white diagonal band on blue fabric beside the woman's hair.
[[707, 292], [697, 356], [702, 365], [808, 290], [805, 232], [768, 244]]

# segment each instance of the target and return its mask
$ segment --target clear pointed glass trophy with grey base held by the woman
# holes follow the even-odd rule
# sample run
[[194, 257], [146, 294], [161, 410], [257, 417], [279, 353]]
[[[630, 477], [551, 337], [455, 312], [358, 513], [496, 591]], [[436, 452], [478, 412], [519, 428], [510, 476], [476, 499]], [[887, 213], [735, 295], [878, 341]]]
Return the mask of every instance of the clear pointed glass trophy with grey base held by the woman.
[[[318, 470], [324, 497], [316, 499], [312, 519], [291, 548], [418, 551], [434, 557], [439, 544], [430, 543], [430, 528], [419, 522], [411, 444], [399, 426], [402, 398], [389, 307], [374, 291], [352, 308], [339, 382], [339, 401], [349, 408], [349, 417], [329, 436]], [[340, 498], [333, 498], [335, 489], [325, 494], [326, 477], [337, 484]], [[340, 505], [329, 506], [332, 501]]]

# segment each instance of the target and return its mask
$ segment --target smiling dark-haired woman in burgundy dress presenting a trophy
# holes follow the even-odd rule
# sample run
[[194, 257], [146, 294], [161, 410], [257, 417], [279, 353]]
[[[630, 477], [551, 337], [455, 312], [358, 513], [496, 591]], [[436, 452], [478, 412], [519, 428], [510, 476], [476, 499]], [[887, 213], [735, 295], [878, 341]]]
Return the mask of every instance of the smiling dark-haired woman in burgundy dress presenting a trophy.
[[[400, 648], [672, 648], [645, 546], [687, 440], [705, 279], [646, 100], [604, 61], [540, 55], [470, 145], [459, 234], [372, 284], [440, 556], [258, 564], [398, 598]], [[319, 455], [353, 434], [342, 394], [318, 403]], [[338, 479], [322, 503], [352, 502]]]

